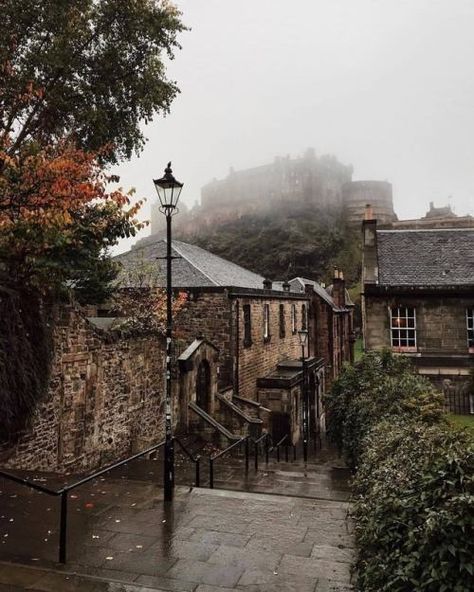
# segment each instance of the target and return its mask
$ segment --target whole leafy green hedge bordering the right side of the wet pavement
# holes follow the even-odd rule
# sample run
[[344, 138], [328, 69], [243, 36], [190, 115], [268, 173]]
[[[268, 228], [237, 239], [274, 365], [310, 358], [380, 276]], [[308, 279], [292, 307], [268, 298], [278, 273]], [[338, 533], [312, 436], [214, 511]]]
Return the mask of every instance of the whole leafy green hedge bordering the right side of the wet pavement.
[[474, 589], [474, 442], [409, 361], [366, 354], [328, 397], [329, 434], [355, 470], [360, 592]]

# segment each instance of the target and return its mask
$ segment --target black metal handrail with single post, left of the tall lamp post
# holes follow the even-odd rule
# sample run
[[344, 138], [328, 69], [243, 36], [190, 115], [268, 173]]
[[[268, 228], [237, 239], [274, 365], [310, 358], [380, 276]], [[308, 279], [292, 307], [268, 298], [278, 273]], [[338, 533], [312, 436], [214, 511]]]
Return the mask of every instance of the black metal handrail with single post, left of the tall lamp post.
[[29, 487], [30, 489], [36, 489], [37, 491], [41, 491], [42, 493], [46, 493], [48, 495], [61, 496], [61, 512], [60, 512], [60, 519], [59, 519], [59, 562], [66, 563], [67, 503], [68, 503], [69, 492], [73, 489], [76, 489], [76, 487], [79, 487], [80, 485], [84, 485], [85, 483], [88, 483], [89, 481], [92, 481], [93, 479], [97, 479], [97, 477], [100, 477], [101, 475], [104, 475], [105, 473], [108, 473], [109, 471], [112, 471], [113, 469], [117, 469], [118, 467], [121, 467], [121, 466], [127, 464], [128, 462], [130, 462], [132, 460], [135, 460], [137, 458], [140, 458], [141, 456], [145, 456], [146, 454], [149, 454], [150, 452], [154, 452], [155, 450], [158, 450], [158, 448], [161, 448], [161, 446], [164, 446], [164, 444], [165, 444], [164, 442], [160, 442], [159, 444], [155, 444], [154, 446], [150, 446], [150, 448], [147, 448], [146, 450], [143, 450], [142, 452], [138, 452], [137, 454], [134, 454], [133, 456], [129, 456], [128, 458], [126, 458], [124, 460], [113, 463], [112, 465], [109, 465], [109, 466], [105, 467], [104, 469], [100, 469], [100, 470], [96, 471], [95, 473], [92, 473], [92, 475], [88, 475], [87, 477], [84, 477], [83, 479], [79, 479], [79, 481], [71, 483], [70, 485], [65, 485], [61, 489], [57, 489], [57, 490], [49, 489], [48, 487], [44, 487], [43, 485], [38, 485], [37, 483], [32, 483], [28, 479], [23, 479], [22, 477], [17, 477], [16, 475], [9, 473], [8, 471], [0, 470], [0, 477], [4, 477], [5, 479], [9, 479], [10, 481], [14, 481], [15, 483], [19, 483], [20, 485], [24, 485], [26, 487]]

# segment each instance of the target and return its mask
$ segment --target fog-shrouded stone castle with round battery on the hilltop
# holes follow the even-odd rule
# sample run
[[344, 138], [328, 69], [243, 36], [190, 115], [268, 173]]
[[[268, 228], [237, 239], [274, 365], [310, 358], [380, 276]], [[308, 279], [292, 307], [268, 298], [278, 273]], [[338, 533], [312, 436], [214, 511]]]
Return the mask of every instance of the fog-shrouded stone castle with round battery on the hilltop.
[[[252, 212], [284, 211], [297, 205], [333, 210], [349, 222], [360, 223], [368, 202], [381, 222], [396, 220], [391, 184], [352, 181], [352, 174], [352, 166], [340, 163], [335, 156], [318, 157], [312, 148], [297, 158], [277, 157], [251, 169], [231, 169], [224, 179], [202, 187], [201, 204], [183, 212], [177, 227], [196, 231]], [[163, 229], [161, 218], [152, 213], [152, 234]]]

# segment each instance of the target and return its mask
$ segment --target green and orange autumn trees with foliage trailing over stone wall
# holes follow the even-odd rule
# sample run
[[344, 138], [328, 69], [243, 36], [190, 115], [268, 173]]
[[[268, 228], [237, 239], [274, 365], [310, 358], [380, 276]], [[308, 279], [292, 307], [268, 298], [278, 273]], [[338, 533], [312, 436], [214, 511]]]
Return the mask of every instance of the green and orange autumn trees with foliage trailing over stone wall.
[[110, 297], [110, 247], [141, 227], [106, 168], [178, 92], [167, 0], [0, 0], [0, 441], [47, 391], [52, 299]]

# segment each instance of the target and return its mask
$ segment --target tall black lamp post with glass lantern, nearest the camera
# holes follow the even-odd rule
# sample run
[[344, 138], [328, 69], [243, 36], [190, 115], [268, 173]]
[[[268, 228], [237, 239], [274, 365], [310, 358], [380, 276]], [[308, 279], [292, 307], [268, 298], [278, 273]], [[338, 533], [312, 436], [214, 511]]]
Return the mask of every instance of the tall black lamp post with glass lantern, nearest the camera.
[[171, 162], [165, 169], [161, 179], [154, 179], [158, 198], [160, 200], [160, 212], [166, 216], [166, 380], [165, 380], [165, 461], [164, 461], [164, 489], [165, 501], [173, 500], [174, 492], [174, 448], [173, 425], [171, 418], [171, 356], [173, 336], [172, 298], [173, 287], [171, 283], [171, 219], [178, 213], [178, 200], [183, 188], [183, 183], [177, 181], [171, 170]]

